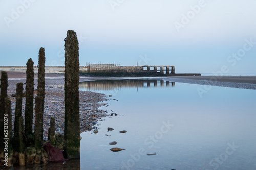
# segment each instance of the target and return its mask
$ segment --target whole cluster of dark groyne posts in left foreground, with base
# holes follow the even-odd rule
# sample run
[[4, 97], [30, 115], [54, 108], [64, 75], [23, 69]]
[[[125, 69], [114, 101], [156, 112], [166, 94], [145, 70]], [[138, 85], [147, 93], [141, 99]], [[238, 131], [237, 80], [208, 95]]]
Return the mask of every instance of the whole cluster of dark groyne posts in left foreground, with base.
[[[34, 98], [34, 62], [30, 58], [26, 70], [26, 94], [24, 84], [16, 85], [14, 123], [11, 100], [8, 97], [8, 75], [2, 71], [0, 94], [0, 168], [63, 161], [80, 157], [79, 123], [79, 53], [76, 33], [69, 30], [65, 39], [65, 132], [64, 153], [55, 146], [54, 117], [50, 120], [48, 141], [43, 140], [45, 104], [45, 48], [38, 55], [37, 96]], [[23, 97], [26, 96], [23, 114]], [[35, 113], [34, 132], [33, 117]], [[23, 116], [25, 115], [25, 116]], [[25, 119], [25, 124], [24, 124]], [[49, 120], [45, 120], [49, 122]], [[63, 156], [65, 155], [65, 157]]]

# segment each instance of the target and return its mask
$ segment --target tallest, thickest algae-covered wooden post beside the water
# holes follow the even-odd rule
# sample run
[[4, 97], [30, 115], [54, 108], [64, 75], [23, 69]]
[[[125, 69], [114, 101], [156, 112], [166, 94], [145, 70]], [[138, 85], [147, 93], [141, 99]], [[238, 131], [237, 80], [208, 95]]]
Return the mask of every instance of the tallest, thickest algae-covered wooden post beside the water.
[[65, 152], [68, 158], [80, 157], [78, 50], [76, 33], [69, 30], [65, 39]]

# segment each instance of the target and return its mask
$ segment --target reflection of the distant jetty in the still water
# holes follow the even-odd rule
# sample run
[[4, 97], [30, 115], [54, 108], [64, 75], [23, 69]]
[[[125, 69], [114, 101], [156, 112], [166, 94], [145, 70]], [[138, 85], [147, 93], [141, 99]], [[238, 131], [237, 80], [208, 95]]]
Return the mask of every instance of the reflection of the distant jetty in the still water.
[[175, 86], [175, 82], [164, 80], [145, 80], [145, 79], [125, 79], [125, 80], [96, 80], [80, 82], [79, 88], [84, 88], [86, 91], [90, 90], [120, 90], [121, 87], [169, 87]]

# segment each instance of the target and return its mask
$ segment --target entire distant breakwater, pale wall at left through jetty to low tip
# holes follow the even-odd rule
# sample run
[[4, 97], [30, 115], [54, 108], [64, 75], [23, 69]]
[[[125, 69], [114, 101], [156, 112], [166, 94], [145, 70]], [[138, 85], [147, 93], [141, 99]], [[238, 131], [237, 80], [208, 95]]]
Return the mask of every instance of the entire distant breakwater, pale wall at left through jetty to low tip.
[[[26, 72], [25, 66], [0, 66], [3, 71]], [[34, 66], [34, 72], [38, 72]], [[45, 66], [46, 73], [64, 74], [65, 66]], [[168, 65], [143, 65], [121, 66], [121, 64], [89, 64], [79, 66], [80, 76], [98, 77], [166, 77], [166, 76], [201, 76], [201, 74], [185, 73], [176, 74], [175, 66]]]

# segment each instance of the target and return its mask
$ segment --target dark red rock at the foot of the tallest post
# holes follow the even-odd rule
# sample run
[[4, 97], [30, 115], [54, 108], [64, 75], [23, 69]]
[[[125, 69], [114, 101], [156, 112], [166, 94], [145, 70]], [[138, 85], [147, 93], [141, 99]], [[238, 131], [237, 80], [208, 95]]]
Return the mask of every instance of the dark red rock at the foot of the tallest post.
[[49, 142], [46, 143], [45, 145], [45, 150], [47, 151], [49, 155], [49, 161], [67, 161], [68, 159], [65, 159], [62, 152], [53, 147]]

